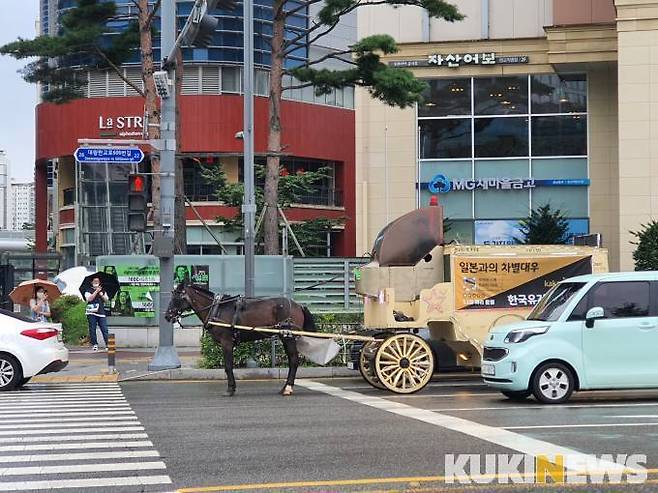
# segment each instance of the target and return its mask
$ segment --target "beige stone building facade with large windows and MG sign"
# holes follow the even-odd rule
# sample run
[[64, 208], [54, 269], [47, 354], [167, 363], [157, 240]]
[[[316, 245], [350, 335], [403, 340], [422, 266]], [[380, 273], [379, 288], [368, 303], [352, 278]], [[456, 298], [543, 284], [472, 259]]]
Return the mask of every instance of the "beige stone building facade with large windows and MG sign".
[[393, 35], [386, 61], [428, 90], [406, 110], [357, 92], [357, 250], [437, 195], [449, 240], [513, 242], [550, 204], [632, 269], [630, 231], [658, 215], [658, 2], [453, 3], [464, 21], [359, 13], [359, 36]]

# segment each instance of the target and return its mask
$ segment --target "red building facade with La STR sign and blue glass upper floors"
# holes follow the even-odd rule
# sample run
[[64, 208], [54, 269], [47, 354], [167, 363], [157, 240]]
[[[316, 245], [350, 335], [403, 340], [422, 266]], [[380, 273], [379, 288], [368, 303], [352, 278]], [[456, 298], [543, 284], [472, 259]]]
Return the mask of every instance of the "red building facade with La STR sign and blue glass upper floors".
[[[73, 1], [42, 0], [41, 29], [54, 33], [56, 20]], [[116, 2], [120, 13], [134, 14], [130, 1]], [[53, 4], [57, 8], [53, 11]], [[177, 2], [182, 24], [193, 2]], [[255, 148], [256, 163], [265, 161], [272, 2], [259, 0], [254, 7], [255, 31]], [[202, 166], [221, 165], [230, 181], [242, 180], [242, 12], [215, 12], [217, 31], [208, 48], [183, 48], [184, 70], [180, 101], [181, 135], [179, 153], [185, 181], [185, 196], [193, 208], [187, 210], [188, 253], [220, 253], [202, 220], [215, 229], [230, 253], [241, 252], [239, 233], [222, 233], [215, 219], [238, 211], [217, 200], [215, 191], [202, 175]], [[291, 33], [309, 25], [313, 12], [300, 10], [290, 18]], [[286, 59], [287, 66], [304, 63], [326, 50], [344, 49], [356, 37], [356, 16], [343, 22], [323, 44], [300, 46]], [[154, 59], [160, 59], [159, 38], [154, 39]], [[324, 51], [323, 51], [324, 50]], [[141, 86], [138, 52], [123, 67], [124, 76]], [[140, 139], [144, 131], [144, 101], [112, 71], [85, 71], [86, 97], [65, 105], [37, 106], [36, 196], [47, 195], [48, 166], [54, 173], [52, 225], [57, 245], [68, 265], [86, 263], [107, 253], [125, 254], [144, 248], [148, 237], [136, 238], [126, 231], [127, 174], [129, 166], [81, 165], [73, 153], [81, 138]], [[287, 76], [284, 85], [294, 85]], [[304, 197], [285, 211], [291, 222], [315, 218], [334, 219], [336, 227], [320, 250], [351, 256], [355, 253], [355, 145], [354, 90], [335, 91], [318, 97], [313, 88], [293, 89], [284, 95], [282, 173], [304, 173], [328, 169], [318, 193]], [[148, 149], [144, 149], [148, 151]], [[148, 152], [147, 152], [148, 154]], [[150, 170], [147, 158], [140, 165]], [[258, 185], [258, 184], [257, 184]], [[37, 247], [45, 248], [48, 210], [37, 201]], [[109, 234], [108, 234], [109, 233]], [[141, 235], [140, 235], [141, 236]], [[141, 242], [141, 243], [140, 243]]]

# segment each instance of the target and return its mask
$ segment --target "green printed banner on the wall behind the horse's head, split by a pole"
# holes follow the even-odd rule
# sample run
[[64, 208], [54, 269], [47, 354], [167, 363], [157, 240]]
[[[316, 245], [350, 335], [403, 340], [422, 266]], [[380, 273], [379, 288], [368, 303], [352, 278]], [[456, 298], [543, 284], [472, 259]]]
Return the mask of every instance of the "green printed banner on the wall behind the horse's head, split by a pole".
[[[111, 314], [120, 317], [154, 318], [153, 294], [160, 291], [160, 268], [157, 265], [105, 266], [104, 271], [113, 273], [119, 280], [119, 291], [111, 300]], [[174, 285], [183, 279], [208, 289], [210, 267], [208, 265], [177, 265]]]

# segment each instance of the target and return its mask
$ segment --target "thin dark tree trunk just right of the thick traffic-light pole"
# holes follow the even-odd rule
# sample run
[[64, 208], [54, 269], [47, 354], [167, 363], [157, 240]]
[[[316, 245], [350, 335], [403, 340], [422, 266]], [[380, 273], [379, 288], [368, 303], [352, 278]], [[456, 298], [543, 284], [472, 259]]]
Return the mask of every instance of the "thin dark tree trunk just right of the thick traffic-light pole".
[[183, 53], [180, 48], [176, 50], [176, 181], [174, 183], [174, 248], [177, 253], [187, 253], [187, 222], [185, 219], [185, 180], [183, 175], [183, 159], [180, 157], [181, 143], [181, 93], [183, 92]]

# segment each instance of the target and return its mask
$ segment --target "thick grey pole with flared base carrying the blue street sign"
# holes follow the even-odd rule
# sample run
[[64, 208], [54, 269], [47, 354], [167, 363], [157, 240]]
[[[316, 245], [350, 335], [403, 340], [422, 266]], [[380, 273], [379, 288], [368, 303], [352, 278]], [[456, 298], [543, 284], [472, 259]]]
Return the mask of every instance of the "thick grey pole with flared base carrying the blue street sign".
[[[169, 53], [176, 40], [176, 2], [164, 0], [161, 11], [161, 52]], [[175, 80], [174, 67], [163, 67], [169, 80]], [[149, 364], [149, 370], [167, 370], [180, 368], [180, 359], [174, 346], [174, 328], [165, 319], [165, 313], [171, 300], [174, 285], [174, 199], [176, 172], [176, 91], [170, 91], [169, 97], [162, 98], [160, 135], [160, 217], [162, 230], [155, 231], [154, 253], [160, 257], [160, 337], [158, 349]]]

